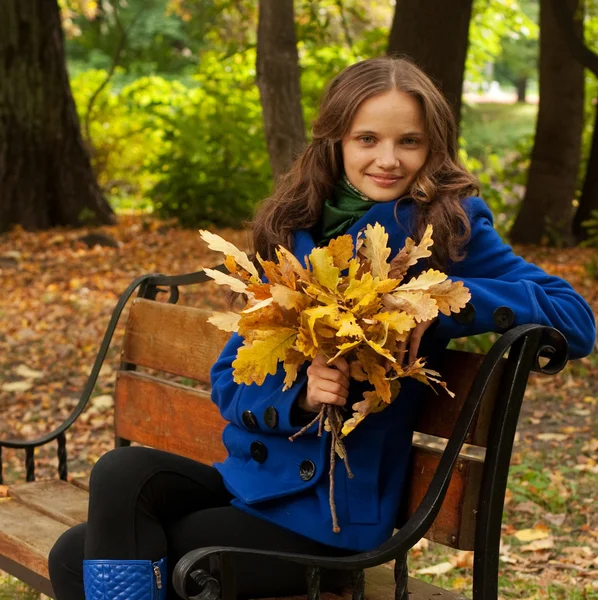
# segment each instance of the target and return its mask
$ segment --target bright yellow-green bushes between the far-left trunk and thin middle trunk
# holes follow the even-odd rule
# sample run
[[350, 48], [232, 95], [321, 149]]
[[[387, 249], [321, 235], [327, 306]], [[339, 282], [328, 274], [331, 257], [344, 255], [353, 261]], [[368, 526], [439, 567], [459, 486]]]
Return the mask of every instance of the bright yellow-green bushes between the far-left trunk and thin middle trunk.
[[[146, 198], [185, 225], [241, 225], [271, 181], [254, 64], [253, 51], [226, 60], [205, 53], [188, 85], [157, 76], [108, 85], [90, 127], [105, 191], [120, 203]], [[104, 75], [73, 80], [81, 113]]]

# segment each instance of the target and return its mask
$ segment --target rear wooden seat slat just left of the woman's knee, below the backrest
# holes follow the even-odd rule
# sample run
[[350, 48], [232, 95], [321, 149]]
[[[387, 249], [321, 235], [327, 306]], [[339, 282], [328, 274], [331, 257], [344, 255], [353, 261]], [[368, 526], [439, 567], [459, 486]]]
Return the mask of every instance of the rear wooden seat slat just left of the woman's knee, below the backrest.
[[8, 488], [11, 498], [73, 527], [87, 521], [89, 494], [66, 481], [36, 481]]

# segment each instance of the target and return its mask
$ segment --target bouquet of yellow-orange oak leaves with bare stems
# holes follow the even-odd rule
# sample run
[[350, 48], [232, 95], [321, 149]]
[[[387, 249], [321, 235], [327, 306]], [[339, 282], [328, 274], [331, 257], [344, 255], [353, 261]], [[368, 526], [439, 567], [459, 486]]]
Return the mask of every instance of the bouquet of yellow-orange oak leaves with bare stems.
[[[230, 272], [204, 269], [206, 275], [247, 298], [241, 313], [214, 313], [209, 319], [216, 327], [243, 337], [232, 364], [236, 383], [261, 385], [282, 363], [283, 391], [287, 390], [301, 366], [321, 353], [329, 363], [343, 356], [351, 378], [373, 385], [372, 391], [353, 404], [346, 420], [338, 407], [323, 406], [314, 421], [299, 432], [318, 420], [320, 434], [323, 426], [331, 432], [331, 473], [338, 454], [352, 476], [342, 438], [394, 400], [401, 378], [413, 377], [446, 388], [439, 373], [425, 367], [424, 359], [403, 365], [401, 347], [417, 323], [434, 319], [439, 312], [459, 312], [470, 299], [462, 282], [452, 282], [438, 270], [428, 269], [405, 281], [410, 267], [431, 256], [432, 232], [428, 225], [419, 244], [407, 238], [404, 248], [389, 260], [384, 227], [368, 225], [357, 237], [356, 248], [352, 237], [343, 235], [312, 250], [305, 261], [309, 268], [280, 246], [277, 262], [256, 256], [267, 278], [263, 282], [244, 252], [215, 234], [200, 231], [210, 249], [224, 253]], [[333, 484], [331, 477], [335, 522]], [[338, 530], [338, 523], [334, 527]]]

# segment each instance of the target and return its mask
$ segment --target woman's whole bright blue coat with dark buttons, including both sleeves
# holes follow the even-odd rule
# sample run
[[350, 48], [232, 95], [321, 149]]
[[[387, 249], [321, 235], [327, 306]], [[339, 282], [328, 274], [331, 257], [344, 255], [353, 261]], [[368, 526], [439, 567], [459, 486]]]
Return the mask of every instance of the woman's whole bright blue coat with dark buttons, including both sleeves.
[[[389, 233], [394, 256], [404, 246], [412, 221], [412, 201], [376, 203], [348, 230], [354, 238], [368, 223], [381, 223]], [[468, 198], [465, 208], [471, 222], [467, 258], [449, 271], [471, 291], [474, 318], [468, 324], [440, 315], [422, 340], [420, 356], [433, 360], [451, 338], [495, 331], [494, 311], [510, 307], [513, 325], [538, 323], [559, 329], [567, 338], [571, 358], [589, 354], [596, 340], [590, 307], [564, 280], [516, 256], [493, 227], [492, 214], [479, 198]], [[294, 237], [294, 254], [303, 257], [314, 248], [307, 231]], [[463, 319], [461, 319], [463, 321]], [[414, 421], [423, 384], [402, 380], [398, 398], [385, 411], [369, 415], [346, 438], [351, 469], [337, 461], [335, 499], [339, 533], [332, 531], [328, 504], [328, 434], [317, 437], [314, 426], [294, 442], [288, 436], [291, 408], [306, 384], [305, 368], [296, 383], [282, 392], [282, 368], [262, 386], [237, 385], [231, 363], [242, 339], [234, 334], [211, 371], [212, 398], [230, 422], [223, 433], [229, 457], [215, 467], [230, 492], [233, 505], [262, 519], [349, 550], [371, 550], [388, 538], [395, 524], [409, 462]], [[363, 388], [355, 382], [349, 402], [360, 399]]]

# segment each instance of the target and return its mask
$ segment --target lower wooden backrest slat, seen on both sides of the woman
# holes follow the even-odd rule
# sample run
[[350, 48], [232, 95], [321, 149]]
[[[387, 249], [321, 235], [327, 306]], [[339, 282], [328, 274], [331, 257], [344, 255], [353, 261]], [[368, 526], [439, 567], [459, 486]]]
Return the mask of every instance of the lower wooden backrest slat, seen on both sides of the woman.
[[[118, 375], [115, 428], [119, 436], [212, 464], [226, 458], [222, 444], [226, 424], [207, 392], [134, 371]], [[441, 452], [416, 446], [412, 454], [409, 515], [428, 489]], [[482, 468], [479, 459], [465, 455], [459, 459], [440, 514], [426, 534], [428, 539], [462, 550], [473, 548]]]

